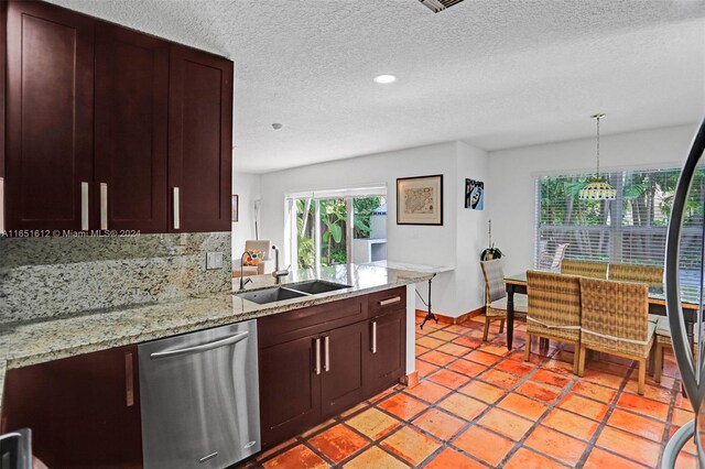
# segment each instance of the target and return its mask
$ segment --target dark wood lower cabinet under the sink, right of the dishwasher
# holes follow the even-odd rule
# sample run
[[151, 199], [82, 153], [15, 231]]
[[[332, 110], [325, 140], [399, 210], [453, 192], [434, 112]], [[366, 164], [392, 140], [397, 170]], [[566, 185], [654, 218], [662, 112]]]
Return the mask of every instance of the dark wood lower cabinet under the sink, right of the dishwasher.
[[399, 381], [405, 371], [404, 304], [368, 319], [362, 296], [259, 320], [262, 449]]

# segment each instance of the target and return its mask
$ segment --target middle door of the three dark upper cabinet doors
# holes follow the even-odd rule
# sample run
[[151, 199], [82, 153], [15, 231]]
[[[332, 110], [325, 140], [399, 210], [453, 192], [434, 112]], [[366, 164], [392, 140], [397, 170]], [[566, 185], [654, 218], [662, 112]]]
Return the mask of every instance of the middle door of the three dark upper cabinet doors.
[[165, 232], [169, 43], [96, 23], [95, 228]]

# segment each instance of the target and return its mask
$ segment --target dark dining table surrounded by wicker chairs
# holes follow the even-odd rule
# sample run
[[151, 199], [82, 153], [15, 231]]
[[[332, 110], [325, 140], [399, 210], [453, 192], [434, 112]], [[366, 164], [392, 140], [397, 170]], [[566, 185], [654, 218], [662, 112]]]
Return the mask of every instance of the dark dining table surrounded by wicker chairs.
[[[527, 294], [527, 272], [505, 276], [507, 287], [507, 349], [512, 349], [514, 336], [514, 294]], [[691, 348], [695, 341], [694, 324], [697, 321], [697, 312], [701, 309], [699, 293], [696, 288], [681, 292], [681, 305], [683, 319]], [[649, 287], [649, 314], [665, 316], [665, 292], [663, 287]]]

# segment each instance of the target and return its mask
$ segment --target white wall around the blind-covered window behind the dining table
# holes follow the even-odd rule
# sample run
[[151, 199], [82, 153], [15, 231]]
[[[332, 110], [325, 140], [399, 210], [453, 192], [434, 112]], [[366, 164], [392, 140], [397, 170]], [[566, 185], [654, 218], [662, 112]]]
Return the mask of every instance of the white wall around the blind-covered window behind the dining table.
[[[600, 171], [681, 166], [696, 129], [692, 124], [601, 137]], [[536, 175], [594, 171], [594, 138], [489, 154], [485, 201], [492, 240], [506, 255], [506, 273], [533, 266]]]

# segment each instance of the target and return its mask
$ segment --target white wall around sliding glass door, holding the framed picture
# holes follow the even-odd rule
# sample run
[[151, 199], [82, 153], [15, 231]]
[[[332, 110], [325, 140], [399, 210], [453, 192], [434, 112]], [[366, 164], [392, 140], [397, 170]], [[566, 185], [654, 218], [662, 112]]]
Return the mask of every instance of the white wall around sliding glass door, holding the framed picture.
[[[486, 171], [487, 154], [484, 151], [465, 143], [448, 142], [263, 174], [261, 232], [263, 238], [284, 244], [286, 193], [383, 183], [388, 189], [389, 260], [457, 265], [455, 272], [440, 274], [434, 280], [433, 309], [447, 316], [458, 316], [481, 306], [484, 302], [481, 286], [480, 293], [477, 286], [468, 286], [477, 281], [479, 251], [469, 255], [465, 249], [476, 250], [476, 246], [485, 242], [484, 238], [479, 241], [475, 239], [478, 236], [476, 228], [482, 225], [485, 216], [480, 211], [470, 214], [475, 210], [462, 207], [465, 178], [482, 178]], [[432, 174], [444, 175], [443, 226], [397, 225], [397, 178]], [[484, 237], [482, 232], [480, 230], [479, 236]], [[459, 234], [462, 240], [458, 240]], [[460, 244], [462, 260], [458, 258]], [[417, 287], [425, 297], [426, 284]], [[423, 305], [419, 303], [417, 307], [422, 309]]]

